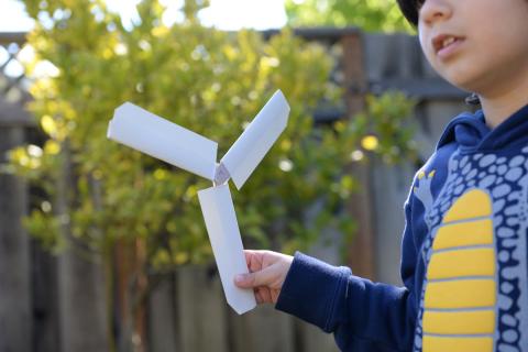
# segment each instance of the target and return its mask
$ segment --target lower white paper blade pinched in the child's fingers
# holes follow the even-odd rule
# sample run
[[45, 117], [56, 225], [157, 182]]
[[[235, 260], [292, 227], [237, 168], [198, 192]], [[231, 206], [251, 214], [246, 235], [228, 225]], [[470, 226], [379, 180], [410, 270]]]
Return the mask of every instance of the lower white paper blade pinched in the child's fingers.
[[223, 293], [228, 304], [242, 315], [255, 308], [256, 301], [253, 289], [242, 289], [233, 283], [235, 275], [246, 274], [249, 271], [229, 186], [221, 185], [199, 190], [198, 199]]

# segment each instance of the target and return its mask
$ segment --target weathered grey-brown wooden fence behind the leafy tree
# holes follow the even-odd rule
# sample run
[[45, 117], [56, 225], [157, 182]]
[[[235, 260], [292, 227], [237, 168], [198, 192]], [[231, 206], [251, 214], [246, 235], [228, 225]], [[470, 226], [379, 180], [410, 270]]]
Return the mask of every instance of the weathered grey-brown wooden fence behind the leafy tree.
[[[415, 119], [425, 160], [447, 121], [466, 108], [464, 94], [428, 66], [416, 37], [363, 34], [355, 29], [306, 29], [297, 34], [338, 53], [332, 79], [345, 87], [344, 109], [319, 111], [316, 119], [320, 122], [361, 110], [366, 92], [404, 90], [419, 100]], [[21, 218], [31, 207], [31, 189], [2, 166], [7, 151], [37, 139], [34, 122], [22, 108], [28, 100], [25, 77], [9, 74], [23, 43], [23, 33], [0, 34], [0, 352], [106, 351], [106, 331], [112, 322], [105, 318], [99, 265], [73, 252], [50, 255], [28, 237]], [[350, 206], [351, 217], [359, 222], [348, 255], [355, 273], [399, 283], [402, 208], [416, 167], [389, 167], [373, 161], [352, 170], [363, 184]], [[338, 253], [338, 248], [322, 244], [312, 250], [334, 264]], [[146, 311], [148, 351], [337, 351], [331, 336], [273, 307], [235, 316], [226, 305], [215, 267], [182, 267], [158, 278]], [[78, 319], [75, 311], [79, 306], [91, 314]], [[138, 337], [118, 341], [118, 348], [136, 350], [134, 341]]]

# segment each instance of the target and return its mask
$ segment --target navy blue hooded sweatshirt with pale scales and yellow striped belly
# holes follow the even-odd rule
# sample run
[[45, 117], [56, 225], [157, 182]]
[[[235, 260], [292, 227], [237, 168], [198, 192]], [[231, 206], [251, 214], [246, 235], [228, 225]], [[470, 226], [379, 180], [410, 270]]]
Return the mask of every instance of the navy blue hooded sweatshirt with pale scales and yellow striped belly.
[[342, 351], [528, 351], [528, 106], [452, 120], [405, 202], [403, 287], [296, 253], [276, 308]]

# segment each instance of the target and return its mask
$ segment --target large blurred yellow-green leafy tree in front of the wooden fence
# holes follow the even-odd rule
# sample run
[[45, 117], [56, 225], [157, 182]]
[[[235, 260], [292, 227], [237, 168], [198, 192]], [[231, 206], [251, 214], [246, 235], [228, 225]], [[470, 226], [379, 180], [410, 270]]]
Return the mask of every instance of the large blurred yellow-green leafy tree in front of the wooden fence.
[[[19, 174], [43, 194], [25, 226], [51, 250], [75, 249], [70, 253], [102, 261], [108, 306], [116, 290], [125, 302], [116, 318], [128, 317], [121, 326], [142, 315], [152, 273], [211, 260], [197, 199], [197, 190], [210, 185], [107, 140], [108, 121], [123, 101], [207, 135], [222, 148], [280, 88], [292, 106], [288, 128], [243, 191], [233, 195], [245, 243], [292, 251], [306, 248], [329, 224], [351, 233], [352, 220], [337, 211], [355, 187], [343, 170], [371, 125], [358, 118], [314, 128], [317, 102], [340, 97], [328, 82], [333, 63], [322, 46], [304, 43], [288, 30], [266, 42], [253, 31], [205, 28], [196, 13], [207, 1], [186, 1], [186, 20], [166, 26], [158, 1], [144, 0], [131, 28], [100, 0], [25, 4], [37, 20], [29, 35], [35, 52], [29, 75], [42, 61], [55, 66], [53, 75], [36, 77], [31, 87], [30, 108], [45, 143], [11, 153]], [[410, 103], [395, 97], [372, 101], [372, 112], [381, 117], [372, 128], [380, 141], [396, 139], [405, 152], [409, 136], [393, 127], [409, 114]], [[375, 150], [377, 143], [363, 144]], [[321, 200], [324, 207], [308, 224], [305, 207]], [[141, 336], [141, 326], [131, 329]]]

